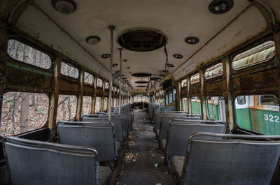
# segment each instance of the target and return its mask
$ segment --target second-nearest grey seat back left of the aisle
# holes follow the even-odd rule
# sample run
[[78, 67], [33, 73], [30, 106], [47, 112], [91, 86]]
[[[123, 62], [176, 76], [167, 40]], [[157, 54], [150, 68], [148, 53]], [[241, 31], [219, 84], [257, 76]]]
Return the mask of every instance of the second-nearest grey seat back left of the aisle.
[[116, 160], [112, 124], [62, 121], [57, 124], [57, 131], [62, 144], [94, 147], [98, 151], [99, 161]]

